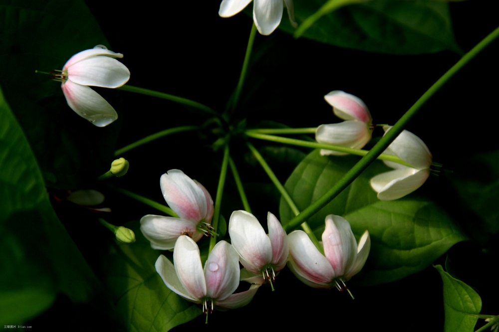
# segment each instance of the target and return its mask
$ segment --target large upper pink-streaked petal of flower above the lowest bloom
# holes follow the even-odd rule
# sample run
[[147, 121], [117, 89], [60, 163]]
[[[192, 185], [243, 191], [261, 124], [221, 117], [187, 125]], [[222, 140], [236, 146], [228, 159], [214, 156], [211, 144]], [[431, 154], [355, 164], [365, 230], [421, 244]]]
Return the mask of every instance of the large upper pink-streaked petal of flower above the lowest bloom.
[[196, 223], [206, 217], [208, 207], [205, 193], [183, 171], [170, 169], [161, 175], [160, 184], [166, 202], [179, 217]]

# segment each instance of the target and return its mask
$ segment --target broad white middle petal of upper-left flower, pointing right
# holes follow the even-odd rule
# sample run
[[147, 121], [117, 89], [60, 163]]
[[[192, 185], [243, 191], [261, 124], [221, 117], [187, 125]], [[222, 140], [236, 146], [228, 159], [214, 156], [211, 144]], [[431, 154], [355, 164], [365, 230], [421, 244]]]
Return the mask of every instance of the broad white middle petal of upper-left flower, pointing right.
[[68, 79], [81, 85], [117, 88], [130, 79], [130, 71], [108, 56], [93, 56], [67, 68]]

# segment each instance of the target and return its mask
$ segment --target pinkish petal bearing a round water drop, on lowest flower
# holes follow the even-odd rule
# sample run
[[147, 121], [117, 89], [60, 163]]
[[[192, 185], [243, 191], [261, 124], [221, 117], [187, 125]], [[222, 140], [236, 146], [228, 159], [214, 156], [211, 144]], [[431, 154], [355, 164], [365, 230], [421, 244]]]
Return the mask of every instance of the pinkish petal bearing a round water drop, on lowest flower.
[[205, 263], [207, 296], [224, 300], [239, 286], [239, 255], [226, 241], [215, 245]]

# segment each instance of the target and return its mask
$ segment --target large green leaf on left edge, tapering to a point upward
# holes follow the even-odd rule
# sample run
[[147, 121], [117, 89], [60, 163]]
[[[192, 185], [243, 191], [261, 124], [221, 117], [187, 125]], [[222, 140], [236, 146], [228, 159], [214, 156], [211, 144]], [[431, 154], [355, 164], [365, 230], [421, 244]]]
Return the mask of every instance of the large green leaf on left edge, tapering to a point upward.
[[0, 165], [0, 326], [42, 312], [60, 291], [87, 301], [98, 282], [57, 219], [1, 90]]

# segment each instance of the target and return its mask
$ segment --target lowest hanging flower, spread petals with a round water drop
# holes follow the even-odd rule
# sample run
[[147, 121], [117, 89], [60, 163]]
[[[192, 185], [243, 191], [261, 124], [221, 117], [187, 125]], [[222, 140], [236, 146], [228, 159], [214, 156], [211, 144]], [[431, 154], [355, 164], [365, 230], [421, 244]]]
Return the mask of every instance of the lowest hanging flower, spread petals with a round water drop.
[[199, 248], [188, 236], [175, 243], [173, 264], [163, 255], [156, 261], [156, 271], [166, 286], [184, 299], [203, 304], [203, 313], [211, 307], [234, 309], [250, 303], [259, 285], [251, 285], [245, 292], [233, 294], [239, 286], [239, 256], [226, 241], [218, 242], [201, 264]]

